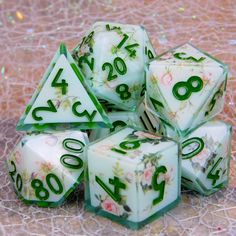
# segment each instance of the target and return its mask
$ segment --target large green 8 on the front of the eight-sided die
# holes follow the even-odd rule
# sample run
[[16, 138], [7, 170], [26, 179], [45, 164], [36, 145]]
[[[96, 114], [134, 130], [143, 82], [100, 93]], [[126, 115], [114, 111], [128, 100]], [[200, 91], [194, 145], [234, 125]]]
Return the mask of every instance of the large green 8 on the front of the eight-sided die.
[[[180, 89], [184, 89], [185, 93], [181, 94]], [[172, 93], [178, 100], [188, 99], [192, 93], [201, 91], [203, 88], [203, 81], [199, 76], [191, 76], [186, 82], [180, 81], [176, 83], [172, 89]]]

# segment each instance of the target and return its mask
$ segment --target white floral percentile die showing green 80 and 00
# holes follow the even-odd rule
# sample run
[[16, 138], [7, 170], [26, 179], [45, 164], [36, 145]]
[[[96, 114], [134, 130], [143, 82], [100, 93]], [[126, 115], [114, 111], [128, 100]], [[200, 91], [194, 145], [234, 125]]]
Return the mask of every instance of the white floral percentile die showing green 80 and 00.
[[67, 131], [22, 138], [7, 158], [14, 189], [27, 204], [56, 207], [83, 178], [87, 134]]

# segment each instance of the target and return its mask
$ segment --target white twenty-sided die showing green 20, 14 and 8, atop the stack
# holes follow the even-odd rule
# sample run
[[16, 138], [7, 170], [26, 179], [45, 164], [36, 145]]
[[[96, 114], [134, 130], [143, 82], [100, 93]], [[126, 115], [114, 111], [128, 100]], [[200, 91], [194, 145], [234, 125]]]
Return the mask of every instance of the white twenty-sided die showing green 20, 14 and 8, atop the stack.
[[154, 58], [145, 29], [138, 25], [97, 22], [73, 50], [99, 99], [135, 110], [145, 87], [144, 65]]

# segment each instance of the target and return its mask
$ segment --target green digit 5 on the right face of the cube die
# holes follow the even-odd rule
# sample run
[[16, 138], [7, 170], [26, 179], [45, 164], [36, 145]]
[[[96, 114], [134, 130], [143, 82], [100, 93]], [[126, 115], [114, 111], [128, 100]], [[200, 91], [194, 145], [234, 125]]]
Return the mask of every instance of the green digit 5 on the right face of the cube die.
[[167, 172], [167, 169], [165, 166], [159, 166], [156, 168], [152, 176], [152, 187], [155, 191], [159, 191], [159, 196], [152, 201], [153, 205], [160, 203], [164, 198], [166, 182], [161, 181], [160, 183], [157, 183], [157, 178], [159, 177], [159, 174], [161, 173], [165, 174], [166, 172]]

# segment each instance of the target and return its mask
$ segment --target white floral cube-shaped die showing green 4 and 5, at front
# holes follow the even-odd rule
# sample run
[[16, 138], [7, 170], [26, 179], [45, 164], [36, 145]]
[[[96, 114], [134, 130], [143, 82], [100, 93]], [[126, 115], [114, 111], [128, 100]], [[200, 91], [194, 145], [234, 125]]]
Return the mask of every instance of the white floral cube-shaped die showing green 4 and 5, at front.
[[125, 127], [88, 146], [86, 208], [137, 229], [180, 199], [178, 144]]

